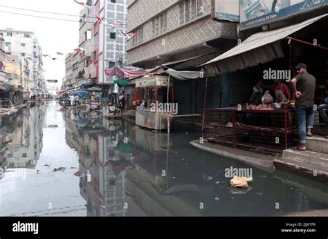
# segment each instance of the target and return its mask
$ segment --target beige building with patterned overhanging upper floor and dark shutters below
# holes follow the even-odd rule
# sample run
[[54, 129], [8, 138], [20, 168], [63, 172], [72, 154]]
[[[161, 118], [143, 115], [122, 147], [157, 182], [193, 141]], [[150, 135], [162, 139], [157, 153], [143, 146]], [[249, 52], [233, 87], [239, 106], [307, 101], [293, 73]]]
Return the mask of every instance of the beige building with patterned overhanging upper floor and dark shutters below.
[[[237, 23], [214, 21], [211, 9], [211, 0], [130, 0], [128, 32], [136, 33], [136, 37], [128, 43], [127, 64], [196, 70], [196, 66], [224, 52], [237, 39]], [[208, 81], [211, 87], [206, 106], [219, 107], [221, 78]], [[174, 80], [179, 114], [202, 113], [205, 82]]]

